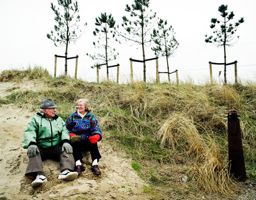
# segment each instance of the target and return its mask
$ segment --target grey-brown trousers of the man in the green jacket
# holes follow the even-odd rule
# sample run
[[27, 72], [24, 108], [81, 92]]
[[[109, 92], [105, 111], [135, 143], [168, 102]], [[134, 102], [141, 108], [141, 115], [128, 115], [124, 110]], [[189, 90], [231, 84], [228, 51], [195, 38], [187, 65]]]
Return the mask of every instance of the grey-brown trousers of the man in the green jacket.
[[38, 146], [39, 154], [34, 157], [29, 157], [28, 167], [25, 175], [29, 178], [35, 178], [35, 174], [43, 172], [43, 162], [45, 159], [52, 159], [60, 162], [60, 171], [63, 169], [69, 169], [73, 171], [75, 168], [75, 161], [72, 154], [62, 152], [62, 146], [56, 146], [52, 148], [42, 148]]

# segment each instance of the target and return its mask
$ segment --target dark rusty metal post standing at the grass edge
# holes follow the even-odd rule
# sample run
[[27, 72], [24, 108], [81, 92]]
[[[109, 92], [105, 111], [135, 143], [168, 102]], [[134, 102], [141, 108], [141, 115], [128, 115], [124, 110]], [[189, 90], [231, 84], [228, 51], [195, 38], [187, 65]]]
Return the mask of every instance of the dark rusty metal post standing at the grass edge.
[[228, 160], [230, 161], [230, 173], [239, 181], [243, 182], [247, 179], [243, 144], [241, 138], [241, 129], [239, 115], [236, 110], [228, 111]]

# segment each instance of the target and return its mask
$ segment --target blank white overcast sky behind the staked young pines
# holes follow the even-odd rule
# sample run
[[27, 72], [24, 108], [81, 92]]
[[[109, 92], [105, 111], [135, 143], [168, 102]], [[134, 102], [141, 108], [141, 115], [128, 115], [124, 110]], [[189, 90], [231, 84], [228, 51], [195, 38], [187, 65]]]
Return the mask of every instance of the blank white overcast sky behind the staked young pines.
[[[54, 75], [54, 55], [65, 55], [65, 46], [56, 47], [46, 34], [54, 30], [54, 13], [51, 2], [39, 0], [1, 0], [0, 1], [0, 71], [4, 69], [22, 69], [31, 66], [42, 66]], [[88, 82], [96, 82], [96, 69], [90, 67], [95, 63], [86, 55], [99, 51], [93, 48], [97, 37], [92, 32], [95, 29], [95, 17], [100, 13], [112, 14], [116, 24], [122, 23], [125, 4], [131, 5], [133, 0], [82, 1], [78, 0], [81, 29], [87, 22], [83, 36], [76, 44], [70, 43], [68, 57], [79, 55], [77, 78]], [[180, 43], [177, 52], [170, 57], [170, 71], [179, 71], [180, 81], [193, 80], [195, 83], [205, 83], [209, 80], [209, 61], [223, 62], [223, 47], [205, 43], [205, 34], [212, 34], [209, 27], [211, 18], [221, 20], [218, 7], [228, 5], [228, 13], [234, 11], [232, 23], [244, 17], [244, 23], [239, 25], [237, 35], [240, 36], [236, 45], [227, 47], [227, 62], [237, 61], [239, 80], [256, 80], [256, 1], [255, 0], [150, 0], [150, 8], [156, 11], [157, 17], [167, 20], [176, 32], [175, 38]], [[130, 80], [129, 58], [142, 60], [141, 46], [119, 45], [114, 43], [119, 57], [110, 65], [120, 64], [120, 82]], [[154, 57], [154, 52], [146, 48], [146, 59]], [[64, 73], [64, 59], [58, 58], [57, 76]], [[147, 62], [147, 82], [156, 80], [156, 62]], [[212, 66], [216, 81], [223, 81], [223, 66]], [[134, 78], [143, 80], [143, 64], [134, 63]], [[68, 60], [68, 75], [74, 76], [75, 59]], [[159, 71], [166, 71], [165, 58], [159, 59]], [[219, 77], [219, 71], [221, 76]], [[116, 68], [109, 68], [110, 79], [116, 80]], [[167, 75], [161, 74], [160, 79], [166, 81]], [[175, 81], [175, 73], [171, 79]], [[100, 69], [100, 80], [106, 79], [106, 67]], [[234, 83], [234, 66], [227, 68], [228, 83]]]

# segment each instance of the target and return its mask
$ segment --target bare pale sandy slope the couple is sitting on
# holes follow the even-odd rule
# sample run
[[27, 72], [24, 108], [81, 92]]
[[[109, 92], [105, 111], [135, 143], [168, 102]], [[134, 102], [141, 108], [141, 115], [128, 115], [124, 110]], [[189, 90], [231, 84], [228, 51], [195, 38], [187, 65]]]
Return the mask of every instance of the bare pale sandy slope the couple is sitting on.
[[[10, 94], [8, 89], [13, 87], [30, 90], [38, 85], [0, 82], [0, 97]], [[24, 176], [28, 157], [22, 148], [23, 132], [33, 115], [26, 106], [0, 106], [0, 199], [151, 199], [143, 193], [147, 184], [131, 168], [131, 160], [104, 139], [99, 142], [102, 175], [92, 175], [89, 155], [83, 159], [86, 171], [73, 182], [58, 180], [58, 162], [45, 161], [48, 182], [33, 189], [31, 180]]]

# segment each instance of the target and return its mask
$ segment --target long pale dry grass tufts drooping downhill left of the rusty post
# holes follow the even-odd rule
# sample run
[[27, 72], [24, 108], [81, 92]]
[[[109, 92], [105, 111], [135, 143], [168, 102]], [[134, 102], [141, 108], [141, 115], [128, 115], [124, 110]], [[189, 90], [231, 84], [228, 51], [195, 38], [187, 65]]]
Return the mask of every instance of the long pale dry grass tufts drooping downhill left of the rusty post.
[[218, 192], [234, 196], [238, 189], [232, 182], [228, 169], [223, 166], [220, 147], [209, 134], [204, 140], [194, 123], [182, 113], [173, 113], [157, 132], [161, 147], [171, 148], [173, 152], [184, 152], [186, 158], [194, 159], [189, 171], [198, 189], [207, 193]]

